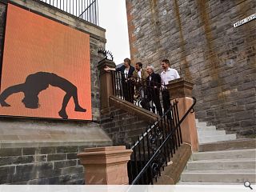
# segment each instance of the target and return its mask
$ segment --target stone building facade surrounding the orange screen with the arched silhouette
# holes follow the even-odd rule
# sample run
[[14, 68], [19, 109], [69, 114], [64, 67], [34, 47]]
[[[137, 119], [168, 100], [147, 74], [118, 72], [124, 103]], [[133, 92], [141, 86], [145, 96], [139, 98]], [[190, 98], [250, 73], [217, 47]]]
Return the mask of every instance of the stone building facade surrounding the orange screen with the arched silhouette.
[[[84, 168], [77, 154], [85, 148], [111, 146], [100, 127], [98, 62], [106, 30], [37, 0], [0, 0], [0, 54], [5, 36], [7, 2], [54, 22], [90, 34], [93, 121], [0, 116], [0, 184], [82, 184]], [[26, 26], [24, 26], [26, 27]]]

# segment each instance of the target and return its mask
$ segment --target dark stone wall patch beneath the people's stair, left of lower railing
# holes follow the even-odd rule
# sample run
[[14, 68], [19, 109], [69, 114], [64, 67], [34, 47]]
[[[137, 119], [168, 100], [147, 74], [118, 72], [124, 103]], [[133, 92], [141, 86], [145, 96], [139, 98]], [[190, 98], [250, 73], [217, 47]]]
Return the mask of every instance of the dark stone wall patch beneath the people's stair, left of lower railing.
[[102, 129], [111, 138], [114, 146], [129, 146], [138, 140], [150, 124], [124, 110], [110, 107], [110, 113], [102, 117]]

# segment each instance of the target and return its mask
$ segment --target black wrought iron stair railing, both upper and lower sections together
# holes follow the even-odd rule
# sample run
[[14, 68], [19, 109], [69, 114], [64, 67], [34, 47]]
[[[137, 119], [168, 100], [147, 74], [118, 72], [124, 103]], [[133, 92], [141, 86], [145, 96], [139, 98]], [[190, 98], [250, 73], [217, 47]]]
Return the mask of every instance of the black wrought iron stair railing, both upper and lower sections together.
[[[179, 118], [177, 99], [162, 115], [160, 98], [161, 94], [167, 91], [165, 85], [117, 71], [112, 71], [112, 84], [114, 96], [160, 114], [161, 118], [152, 126], [146, 127], [138, 140], [129, 146], [133, 150], [128, 163], [129, 183], [154, 184], [154, 180], [157, 182], [161, 170], [164, 170], [167, 162], [170, 162], [170, 158], [182, 144], [181, 124], [188, 114], [194, 112], [196, 99], [193, 98], [193, 104], [182, 118]], [[154, 111], [154, 107], [157, 110]]]

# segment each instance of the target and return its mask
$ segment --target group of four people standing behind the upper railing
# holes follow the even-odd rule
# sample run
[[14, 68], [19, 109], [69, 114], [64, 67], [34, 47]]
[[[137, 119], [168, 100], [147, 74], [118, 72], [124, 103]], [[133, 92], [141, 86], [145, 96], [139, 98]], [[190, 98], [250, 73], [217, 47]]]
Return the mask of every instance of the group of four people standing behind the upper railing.
[[[160, 102], [160, 91], [162, 92], [163, 109], [166, 113], [170, 108], [170, 94], [166, 85], [176, 78], [180, 78], [178, 71], [170, 68], [170, 61], [163, 59], [161, 62], [162, 73], [154, 73], [154, 66], [142, 68], [142, 62], [136, 62], [131, 66], [130, 59], [125, 58], [124, 64], [119, 68], [106, 67], [105, 70], [120, 71], [122, 75], [122, 94], [126, 101], [134, 102], [134, 97], [140, 94], [141, 105], [150, 110], [150, 102], [154, 102], [156, 110], [162, 116], [162, 105]], [[168, 116], [170, 114], [167, 114]], [[170, 117], [168, 117], [170, 118]]]

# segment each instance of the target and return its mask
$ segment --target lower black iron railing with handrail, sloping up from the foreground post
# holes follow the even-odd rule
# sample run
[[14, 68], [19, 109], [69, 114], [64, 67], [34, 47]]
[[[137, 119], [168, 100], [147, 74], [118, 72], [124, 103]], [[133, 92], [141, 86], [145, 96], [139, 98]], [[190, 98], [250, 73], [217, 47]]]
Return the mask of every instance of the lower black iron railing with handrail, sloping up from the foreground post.
[[[157, 182], [161, 171], [170, 162], [178, 147], [182, 144], [181, 124], [189, 113], [194, 112], [196, 99], [186, 114], [179, 119], [178, 101], [154, 125], [148, 127], [134, 142], [133, 150], [128, 163], [129, 183], [131, 185], [148, 185]], [[171, 114], [171, 118], [167, 115]]]

